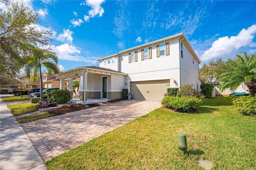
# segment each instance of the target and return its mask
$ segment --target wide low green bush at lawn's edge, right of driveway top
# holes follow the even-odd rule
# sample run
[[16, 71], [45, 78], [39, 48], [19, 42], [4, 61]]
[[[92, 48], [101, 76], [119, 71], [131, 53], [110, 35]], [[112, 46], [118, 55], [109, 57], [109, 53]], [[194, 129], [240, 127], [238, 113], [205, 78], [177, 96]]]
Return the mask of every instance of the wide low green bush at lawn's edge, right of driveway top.
[[202, 99], [196, 97], [174, 97], [168, 96], [162, 99], [162, 105], [170, 109], [176, 109], [179, 112], [194, 113], [198, 111], [202, 105]]

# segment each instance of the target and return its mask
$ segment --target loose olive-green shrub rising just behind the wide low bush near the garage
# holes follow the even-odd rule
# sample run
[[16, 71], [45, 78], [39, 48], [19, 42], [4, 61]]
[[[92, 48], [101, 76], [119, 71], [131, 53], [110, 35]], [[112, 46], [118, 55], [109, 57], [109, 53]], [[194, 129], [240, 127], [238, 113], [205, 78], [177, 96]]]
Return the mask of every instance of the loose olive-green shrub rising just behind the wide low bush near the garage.
[[204, 98], [201, 93], [199, 93], [195, 88], [195, 85], [190, 84], [190, 85], [183, 85], [180, 87], [180, 90], [177, 93], [178, 97], [197, 97], [197, 98]]

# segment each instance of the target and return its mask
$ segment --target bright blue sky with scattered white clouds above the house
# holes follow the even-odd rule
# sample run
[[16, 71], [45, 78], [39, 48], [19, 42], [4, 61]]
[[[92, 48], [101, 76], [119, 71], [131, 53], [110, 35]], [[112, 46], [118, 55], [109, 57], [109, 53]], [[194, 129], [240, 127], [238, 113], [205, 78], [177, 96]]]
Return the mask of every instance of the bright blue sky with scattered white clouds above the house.
[[202, 62], [256, 52], [256, 1], [26, 0], [62, 71], [183, 32]]

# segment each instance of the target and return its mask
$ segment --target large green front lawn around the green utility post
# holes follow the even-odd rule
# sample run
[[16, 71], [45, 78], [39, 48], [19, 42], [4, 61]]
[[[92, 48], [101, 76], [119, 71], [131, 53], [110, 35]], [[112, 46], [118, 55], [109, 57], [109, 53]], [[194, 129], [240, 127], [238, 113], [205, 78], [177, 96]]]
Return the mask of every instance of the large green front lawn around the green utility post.
[[[204, 99], [197, 114], [156, 109], [52, 158], [55, 169], [254, 169], [256, 119], [238, 114], [231, 97]], [[178, 152], [178, 134], [187, 135], [187, 154]]]

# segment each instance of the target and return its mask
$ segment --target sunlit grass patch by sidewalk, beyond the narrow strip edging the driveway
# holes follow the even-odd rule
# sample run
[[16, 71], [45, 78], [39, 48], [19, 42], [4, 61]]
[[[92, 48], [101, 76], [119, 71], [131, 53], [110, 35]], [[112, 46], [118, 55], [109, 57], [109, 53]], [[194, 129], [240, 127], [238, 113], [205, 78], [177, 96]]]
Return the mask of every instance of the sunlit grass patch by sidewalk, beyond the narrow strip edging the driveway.
[[8, 105], [8, 108], [12, 111], [14, 116], [23, 115], [25, 113], [30, 113], [34, 111], [38, 111], [36, 108], [37, 103], [22, 103], [15, 105]]

